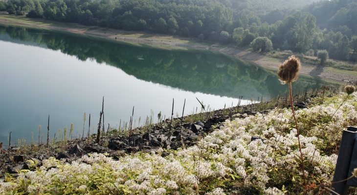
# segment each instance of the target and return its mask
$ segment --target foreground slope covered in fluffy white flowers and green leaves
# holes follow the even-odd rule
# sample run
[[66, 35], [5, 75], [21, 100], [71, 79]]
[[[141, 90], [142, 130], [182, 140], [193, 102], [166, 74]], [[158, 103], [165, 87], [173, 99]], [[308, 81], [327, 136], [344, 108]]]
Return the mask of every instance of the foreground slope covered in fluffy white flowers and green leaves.
[[[325, 98], [323, 105], [316, 98], [316, 105], [296, 112], [310, 184], [331, 184], [343, 125], [356, 124], [357, 97], [345, 98]], [[262, 138], [251, 141], [252, 136]], [[300, 194], [304, 189], [298, 150], [291, 110], [274, 109], [227, 120], [196, 146], [170, 150], [166, 157], [160, 149], [119, 160], [105, 154], [71, 163], [50, 158], [33, 171], [0, 181], [0, 194]], [[329, 194], [322, 188], [311, 193]]]

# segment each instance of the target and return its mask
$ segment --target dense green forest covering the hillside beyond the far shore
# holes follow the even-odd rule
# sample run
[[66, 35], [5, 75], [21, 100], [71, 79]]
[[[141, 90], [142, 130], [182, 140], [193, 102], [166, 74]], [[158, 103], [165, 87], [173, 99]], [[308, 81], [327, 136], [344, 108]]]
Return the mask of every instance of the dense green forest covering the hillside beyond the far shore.
[[332, 59], [357, 60], [356, 0], [8, 0], [0, 1], [0, 10], [223, 44], [252, 43], [255, 51], [316, 56], [327, 50]]

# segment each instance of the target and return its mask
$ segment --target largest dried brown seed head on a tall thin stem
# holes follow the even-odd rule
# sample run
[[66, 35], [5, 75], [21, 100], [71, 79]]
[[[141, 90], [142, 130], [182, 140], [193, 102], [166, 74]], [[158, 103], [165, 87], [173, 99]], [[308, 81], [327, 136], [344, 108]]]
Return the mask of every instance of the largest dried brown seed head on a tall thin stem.
[[285, 84], [297, 80], [300, 71], [300, 59], [290, 56], [278, 69], [278, 78]]

